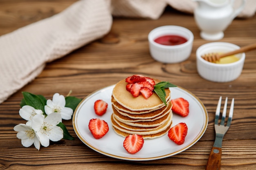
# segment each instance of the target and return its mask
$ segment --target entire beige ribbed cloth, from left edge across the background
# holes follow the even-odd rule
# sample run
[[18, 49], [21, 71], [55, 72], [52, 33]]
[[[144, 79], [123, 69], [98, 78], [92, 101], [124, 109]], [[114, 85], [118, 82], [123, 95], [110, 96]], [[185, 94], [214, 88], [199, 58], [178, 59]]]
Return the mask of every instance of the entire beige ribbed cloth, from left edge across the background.
[[[236, 0], [236, 4], [239, 0]], [[159, 18], [165, 7], [193, 13], [193, 0], [79, 0], [50, 18], [0, 36], [0, 103], [38, 76], [45, 64], [106, 35], [113, 16]], [[240, 17], [255, 14], [247, 0]]]

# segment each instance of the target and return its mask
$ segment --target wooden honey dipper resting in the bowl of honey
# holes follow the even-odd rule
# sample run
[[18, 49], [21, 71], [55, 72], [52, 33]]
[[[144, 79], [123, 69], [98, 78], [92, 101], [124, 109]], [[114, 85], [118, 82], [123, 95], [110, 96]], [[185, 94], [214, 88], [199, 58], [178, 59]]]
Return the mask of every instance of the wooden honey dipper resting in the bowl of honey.
[[247, 45], [247, 46], [243, 46], [240, 49], [237, 49], [235, 51], [230, 51], [228, 53], [223, 53], [223, 54], [207, 53], [207, 54], [202, 55], [202, 58], [204, 60], [208, 61], [208, 62], [216, 62], [216, 61], [219, 61], [220, 58], [222, 58], [222, 57], [227, 57], [229, 55], [243, 53], [243, 52], [250, 51], [250, 50], [253, 50], [253, 49], [256, 49], [256, 43], [255, 44], [250, 44], [250, 45]]

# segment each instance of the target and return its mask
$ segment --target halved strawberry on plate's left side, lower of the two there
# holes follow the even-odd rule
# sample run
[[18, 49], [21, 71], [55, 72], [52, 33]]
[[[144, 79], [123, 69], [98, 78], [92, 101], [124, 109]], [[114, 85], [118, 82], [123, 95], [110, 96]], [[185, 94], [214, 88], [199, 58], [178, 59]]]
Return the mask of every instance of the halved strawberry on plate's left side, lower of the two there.
[[108, 132], [108, 123], [101, 119], [90, 119], [89, 130], [95, 139], [100, 139]]

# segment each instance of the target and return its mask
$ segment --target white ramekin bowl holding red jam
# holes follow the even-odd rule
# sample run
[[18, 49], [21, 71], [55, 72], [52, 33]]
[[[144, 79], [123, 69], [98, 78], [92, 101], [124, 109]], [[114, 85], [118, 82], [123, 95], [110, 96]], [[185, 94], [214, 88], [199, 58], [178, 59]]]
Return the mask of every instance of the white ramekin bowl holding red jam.
[[[187, 42], [180, 45], [162, 45], [154, 40], [164, 35], [179, 35], [187, 39]], [[150, 55], [158, 62], [163, 63], [178, 63], [189, 58], [194, 35], [189, 30], [182, 26], [167, 25], [160, 26], [148, 34]]]

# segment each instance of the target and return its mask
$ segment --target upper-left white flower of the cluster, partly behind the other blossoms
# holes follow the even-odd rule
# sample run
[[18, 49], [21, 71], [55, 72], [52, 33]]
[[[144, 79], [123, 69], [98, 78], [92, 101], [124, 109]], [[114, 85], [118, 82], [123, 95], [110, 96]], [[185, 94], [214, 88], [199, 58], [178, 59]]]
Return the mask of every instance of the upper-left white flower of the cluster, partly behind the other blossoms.
[[28, 121], [26, 123], [27, 125], [31, 125], [32, 118], [34, 117], [34, 115], [37, 115], [37, 114], [43, 115], [43, 111], [35, 109], [32, 106], [25, 105], [25, 106], [22, 106], [22, 108], [20, 108], [19, 114], [20, 114], [20, 117]]

